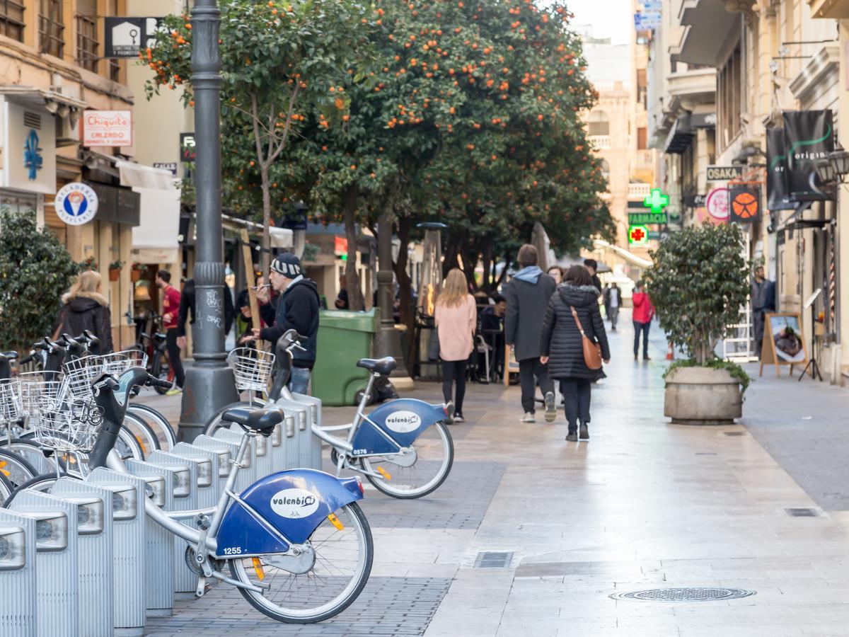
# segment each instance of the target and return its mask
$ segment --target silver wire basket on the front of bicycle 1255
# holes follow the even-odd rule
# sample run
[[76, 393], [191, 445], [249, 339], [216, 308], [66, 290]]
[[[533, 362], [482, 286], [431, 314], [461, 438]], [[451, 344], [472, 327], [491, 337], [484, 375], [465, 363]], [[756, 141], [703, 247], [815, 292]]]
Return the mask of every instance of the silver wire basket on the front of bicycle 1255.
[[64, 452], [90, 452], [103, 425], [103, 410], [92, 397], [43, 396], [30, 420], [34, 438], [42, 447]]

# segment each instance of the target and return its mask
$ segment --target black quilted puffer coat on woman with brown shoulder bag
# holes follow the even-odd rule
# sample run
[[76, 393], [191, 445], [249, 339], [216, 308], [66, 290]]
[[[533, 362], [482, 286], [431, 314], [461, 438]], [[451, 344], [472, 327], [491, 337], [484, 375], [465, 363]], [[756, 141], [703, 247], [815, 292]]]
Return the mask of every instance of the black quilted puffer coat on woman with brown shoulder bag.
[[584, 333], [601, 345], [601, 357], [610, 358], [607, 333], [599, 312], [598, 290], [594, 285], [561, 285], [548, 302], [543, 319], [543, 335], [539, 348], [542, 356], [548, 356], [548, 375], [552, 378], [589, 378], [602, 375], [600, 369], [589, 369], [583, 360], [581, 332], [572, 316], [570, 306], [575, 307], [581, 319]]

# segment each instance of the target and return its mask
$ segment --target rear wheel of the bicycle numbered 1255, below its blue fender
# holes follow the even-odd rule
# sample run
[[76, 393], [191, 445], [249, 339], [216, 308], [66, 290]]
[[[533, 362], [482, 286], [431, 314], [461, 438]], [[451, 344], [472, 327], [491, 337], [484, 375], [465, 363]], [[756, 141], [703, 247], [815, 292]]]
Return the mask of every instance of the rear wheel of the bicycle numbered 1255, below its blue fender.
[[284, 623], [315, 623], [351, 605], [371, 572], [374, 544], [371, 529], [356, 502], [325, 518], [307, 543], [315, 551], [312, 569], [301, 575], [275, 566], [279, 555], [230, 561], [233, 578], [263, 588], [239, 589], [250, 605]]

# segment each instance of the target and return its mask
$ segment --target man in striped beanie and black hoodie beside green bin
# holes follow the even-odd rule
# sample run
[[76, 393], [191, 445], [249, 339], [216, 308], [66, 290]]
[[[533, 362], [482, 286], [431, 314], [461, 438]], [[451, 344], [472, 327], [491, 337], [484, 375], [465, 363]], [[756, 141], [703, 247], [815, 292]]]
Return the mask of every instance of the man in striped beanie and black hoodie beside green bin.
[[267, 305], [261, 306], [266, 327], [253, 330], [253, 337], [276, 343], [286, 330], [296, 330], [306, 336], [301, 343], [306, 352], [296, 351], [292, 357], [290, 389], [294, 393], [306, 394], [309, 390], [312, 366], [316, 362], [318, 344], [318, 289], [311, 279], [301, 274], [301, 261], [290, 252], [276, 256], [271, 263], [268, 279], [274, 290], [280, 293], [277, 310], [272, 317], [272, 305], [268, 302], [267, 288], [257, 290], [256, 297]]

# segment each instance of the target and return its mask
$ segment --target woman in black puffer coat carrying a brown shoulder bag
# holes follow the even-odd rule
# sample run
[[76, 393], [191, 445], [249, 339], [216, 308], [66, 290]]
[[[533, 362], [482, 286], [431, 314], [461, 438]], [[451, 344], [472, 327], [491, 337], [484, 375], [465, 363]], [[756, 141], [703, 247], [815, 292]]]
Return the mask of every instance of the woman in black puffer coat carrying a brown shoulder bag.
[[601, 369], [589, 369], [583, 359], [583, 341], [571, 307], [575, 308], [584, 333], [601, 345], [601, 358], [610, 362], [610, 347], [599, 312], [599, 290], [593, 285], [587, 268], [569, 268], [551, 300], [543, 321], [540, 337], [540, 362], [548, 363], [548, 374], [560, 381], [569, 434], [566, 440], [578, 439], [577, 423], [581, 423], [581, 439], [589, 439], [589, 399], [593, 381], [604, 375]]

